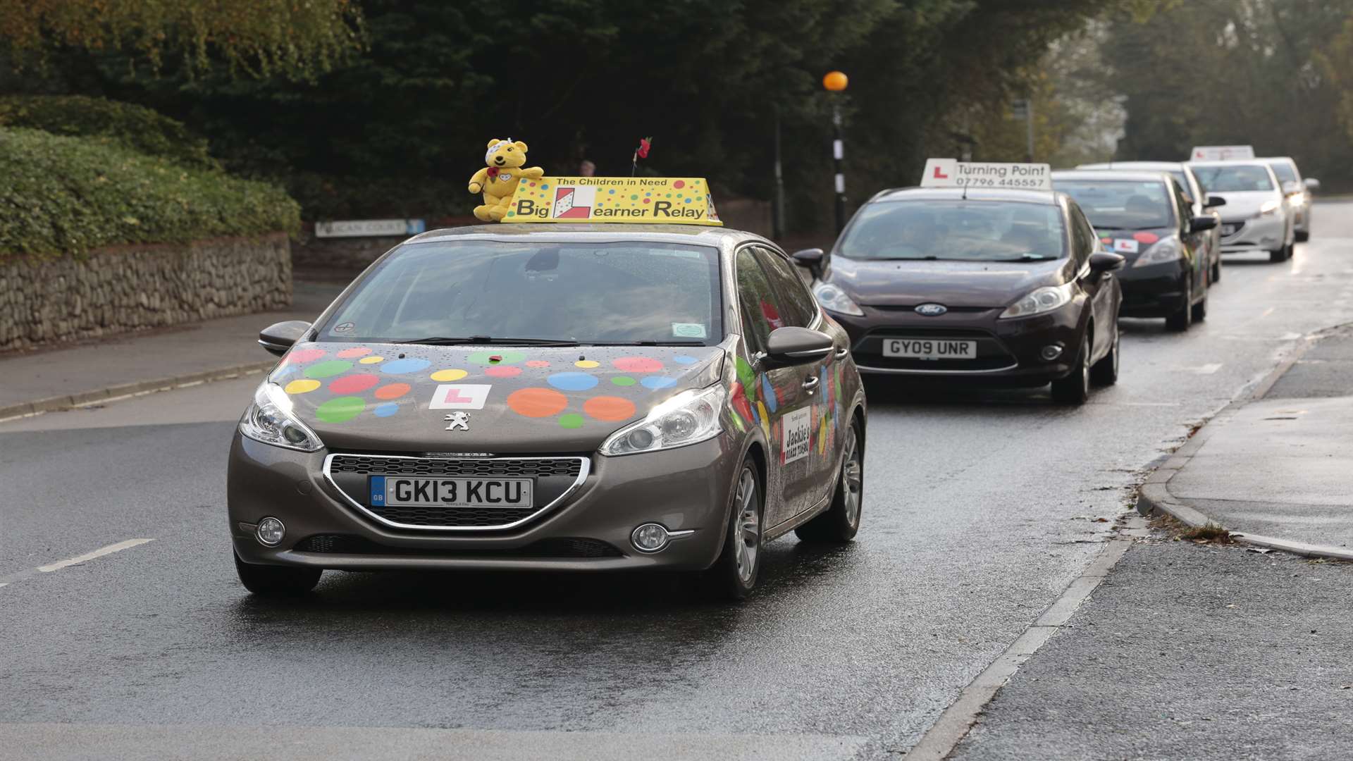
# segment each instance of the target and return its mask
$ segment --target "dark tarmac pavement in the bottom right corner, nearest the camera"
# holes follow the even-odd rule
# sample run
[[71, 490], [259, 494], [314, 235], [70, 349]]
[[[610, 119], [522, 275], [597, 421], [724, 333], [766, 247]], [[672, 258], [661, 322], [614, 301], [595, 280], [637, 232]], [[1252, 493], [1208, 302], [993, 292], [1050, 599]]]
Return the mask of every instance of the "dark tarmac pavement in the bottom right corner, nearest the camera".
[[1348, 758], [1350, 599], [1350, 563], [1158, 532], [1132, 544], [951, 758]]

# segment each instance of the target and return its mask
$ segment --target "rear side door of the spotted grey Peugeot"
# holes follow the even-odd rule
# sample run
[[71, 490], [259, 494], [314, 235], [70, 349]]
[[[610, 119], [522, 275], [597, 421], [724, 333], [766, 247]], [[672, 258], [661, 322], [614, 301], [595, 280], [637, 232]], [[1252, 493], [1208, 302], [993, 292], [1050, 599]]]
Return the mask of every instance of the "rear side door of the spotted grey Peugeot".
[[[804, 286], [796, 267], [787, 256], [769, 246], [754, 246], [756, 260], [779, 297], [781, 317], [786, 326], [817, 329], [823, 326], [817, 301]], [[836, 341], [844, 345], [844, 340]], [[793, 517], [827, 498], [832, 478], [836, 474], [835, 448], [828, 448], [831, 402], [833, 401], [833, 380], [831, 363], [835, 352], [827, 356], [794, 366], [798, 371], [798, 404], [785, 416], [782, 435], [782, 458], [792, 452], [794, 462], [785, 462], [786, 478], [792, 481], [789, 502]], [[806, 433], [808, 451], [802, 452], [801, 437]], [[796, 447], [797, 444], [797, 447]]]

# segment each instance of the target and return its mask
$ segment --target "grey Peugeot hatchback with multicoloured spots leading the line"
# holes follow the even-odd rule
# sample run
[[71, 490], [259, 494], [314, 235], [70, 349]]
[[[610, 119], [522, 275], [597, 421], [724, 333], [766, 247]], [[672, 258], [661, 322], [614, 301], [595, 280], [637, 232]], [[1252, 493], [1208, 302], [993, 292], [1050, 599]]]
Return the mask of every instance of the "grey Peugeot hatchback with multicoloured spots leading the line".
[[394, 248], [281, 356], [234, 435], [234, 562], [258, 594], [325, 569], [704, 571], [847, 542], [865, 393], [773, 242], [678, 225], [491, 225]]

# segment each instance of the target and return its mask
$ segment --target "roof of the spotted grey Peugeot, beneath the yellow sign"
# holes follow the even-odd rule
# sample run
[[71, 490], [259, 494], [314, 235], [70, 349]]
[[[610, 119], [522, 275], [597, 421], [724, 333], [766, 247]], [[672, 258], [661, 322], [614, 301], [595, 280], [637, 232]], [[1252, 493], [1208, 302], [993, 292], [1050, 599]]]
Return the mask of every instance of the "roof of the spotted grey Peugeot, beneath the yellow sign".
[[409, 244], [452, 242], [452, 241], [513, 241], [533, 240], [541, 242], [614, 242], [651, 241], [670, 244], [695, 244], [723, 248], [744, 240], [770, 242], [766, 238], [744, 230], [716, 227], [710, 225], [636, 225], [628, 222], [593, 223], [514, 223], [514, 225], [469, 225], [464, 227], [442, 227], [428, 230], [405, 241]]

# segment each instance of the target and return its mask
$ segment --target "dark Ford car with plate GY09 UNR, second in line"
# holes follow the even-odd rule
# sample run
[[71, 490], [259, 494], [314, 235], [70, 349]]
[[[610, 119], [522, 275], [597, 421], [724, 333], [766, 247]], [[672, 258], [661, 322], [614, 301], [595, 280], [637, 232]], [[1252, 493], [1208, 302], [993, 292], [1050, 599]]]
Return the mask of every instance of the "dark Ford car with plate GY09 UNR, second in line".
[[813, 269], [861, 372], [1051, 383], [1063, 404], [1118, 380], [1123, 259], [1063, 194], [884, 191], [829, 253], [794, 259]]

